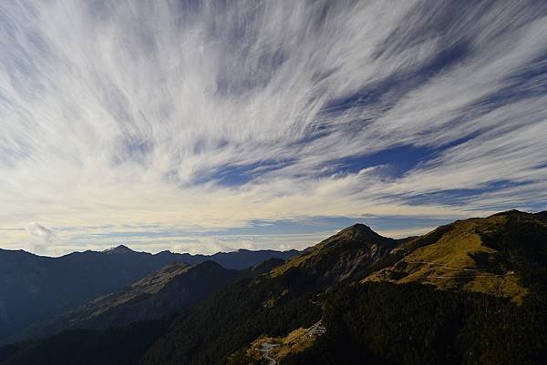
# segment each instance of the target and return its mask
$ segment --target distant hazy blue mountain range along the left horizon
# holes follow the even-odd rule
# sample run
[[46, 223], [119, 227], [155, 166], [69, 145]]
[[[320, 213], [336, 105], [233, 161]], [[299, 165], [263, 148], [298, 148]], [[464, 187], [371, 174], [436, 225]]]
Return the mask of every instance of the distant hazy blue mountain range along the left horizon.
[[122, 289], [172, 262], [197, 265], [212, 260], [226, 269], [246, 269], [296, 253], [238, 250], [206, 256], [162, 251], [152, 255], [122, 245], [49, 258], [0, 249], [0, 343], [33, 322]]

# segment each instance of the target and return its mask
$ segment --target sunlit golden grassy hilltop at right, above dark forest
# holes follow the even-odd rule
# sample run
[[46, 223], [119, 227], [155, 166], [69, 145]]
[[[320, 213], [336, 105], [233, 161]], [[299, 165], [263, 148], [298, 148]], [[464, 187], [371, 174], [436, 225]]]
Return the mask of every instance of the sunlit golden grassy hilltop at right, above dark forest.
[[418, 281], [521, 302], [527, 277], [541, 270], [545, 258], [545, 228], [543, 213], [518, 211], [456, 221], [395, 248], [390, 265], [363, 281]]

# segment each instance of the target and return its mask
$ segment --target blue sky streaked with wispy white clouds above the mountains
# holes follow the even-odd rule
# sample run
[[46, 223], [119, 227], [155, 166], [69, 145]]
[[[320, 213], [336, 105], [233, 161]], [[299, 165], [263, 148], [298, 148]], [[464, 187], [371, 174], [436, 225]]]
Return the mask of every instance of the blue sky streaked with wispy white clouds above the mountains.
[[547, 208], [545, 1], [0, 2], [0, 248], [305, 248]]

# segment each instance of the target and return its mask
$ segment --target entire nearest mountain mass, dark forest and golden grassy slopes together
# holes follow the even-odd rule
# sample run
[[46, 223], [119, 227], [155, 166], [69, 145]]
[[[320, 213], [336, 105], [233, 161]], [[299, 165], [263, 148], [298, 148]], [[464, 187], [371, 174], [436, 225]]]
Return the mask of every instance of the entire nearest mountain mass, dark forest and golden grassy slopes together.
[[355, 225], [174, 318], [20, 342], [0, 364], [541, 364], [546, 217], [508, 211], [399, 240]]

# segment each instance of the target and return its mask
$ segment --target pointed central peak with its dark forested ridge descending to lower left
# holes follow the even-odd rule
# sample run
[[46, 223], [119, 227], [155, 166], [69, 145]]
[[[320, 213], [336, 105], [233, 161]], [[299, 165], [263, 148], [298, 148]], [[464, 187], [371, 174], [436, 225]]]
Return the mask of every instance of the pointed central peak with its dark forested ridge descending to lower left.
[[[179, 317], [150, 348], [145, 363], [222, 363], [263, 334], [283, 337], [291, 330], [310, 328], [321, 318], [318, 293], [352, 281], [396, 246], [397, 240], [362, 224], [343, 229], [271, 272], [241, 280]], [[253, 360], [243, 356], [241, 361]]]

